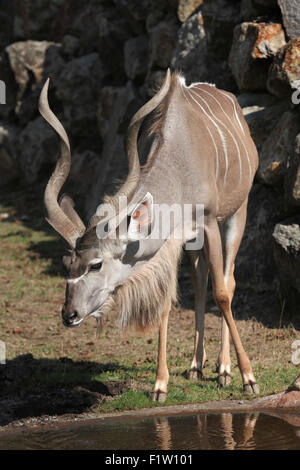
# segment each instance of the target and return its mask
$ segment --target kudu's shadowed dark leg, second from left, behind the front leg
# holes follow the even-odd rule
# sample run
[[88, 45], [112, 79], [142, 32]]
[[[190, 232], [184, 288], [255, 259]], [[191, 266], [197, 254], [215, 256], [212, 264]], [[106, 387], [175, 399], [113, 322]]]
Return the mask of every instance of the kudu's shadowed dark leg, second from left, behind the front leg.
[[203, 250], [189, 252], [192, 263], [192, 280], [195, 290], [195, 346], [189, 378], [202, 378], [206, 354], [204, 349], [204, 314], [207, 289], [207, 262]]

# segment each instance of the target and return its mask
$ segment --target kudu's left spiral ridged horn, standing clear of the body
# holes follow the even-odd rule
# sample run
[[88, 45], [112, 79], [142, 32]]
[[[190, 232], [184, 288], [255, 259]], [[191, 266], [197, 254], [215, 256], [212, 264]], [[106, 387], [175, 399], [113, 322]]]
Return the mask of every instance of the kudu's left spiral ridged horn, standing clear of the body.
[[66, 131], [51, 111], [48, 103], [49, 78], [46, 80], [39, 99], [39, 111], [50, 126], [61, 138], [61, 152], [57, 160], [56, 167], [48, 181], [44, 193], [44, 203], [46, 208], [46, 220], [70, 245], [74, 248], [76, 240], [81, 236], [76, 226], [64, 213], [58, 204], [59, 192], [65, 183], [71, 168], [70, 143]]

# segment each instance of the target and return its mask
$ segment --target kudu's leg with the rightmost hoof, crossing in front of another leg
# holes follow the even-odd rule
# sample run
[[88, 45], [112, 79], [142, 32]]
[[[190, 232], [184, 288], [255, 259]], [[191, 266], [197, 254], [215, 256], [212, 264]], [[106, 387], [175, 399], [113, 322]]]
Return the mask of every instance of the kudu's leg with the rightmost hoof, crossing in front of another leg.
[[228, 282], [225, 282], [221, 235], [215, 217], [206, 218], [205, 245], [215, 302], [220, 308], [230, 331], [242, 375], [244, 391], [246, 393], [258, 393], [259, 387], [254, 378], [250, 361], [243, 348], [231, 312], [232, 296], [229, 293]]

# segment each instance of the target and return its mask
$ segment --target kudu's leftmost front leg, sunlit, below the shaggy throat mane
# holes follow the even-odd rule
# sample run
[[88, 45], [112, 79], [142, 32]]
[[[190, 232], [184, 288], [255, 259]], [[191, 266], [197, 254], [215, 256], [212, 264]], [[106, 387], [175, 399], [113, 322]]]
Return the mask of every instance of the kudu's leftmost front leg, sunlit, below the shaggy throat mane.
[[161, 324], [159, 327], [156, 380], [154, 390], [152, 392], [152, 400], [159, 402], [164, 402], [166, 400], [169, 382], [169, 371], [167, 365], [167, 330], [170, 309], [171, 300], [169, 300], [168, 306], [162, 314]]

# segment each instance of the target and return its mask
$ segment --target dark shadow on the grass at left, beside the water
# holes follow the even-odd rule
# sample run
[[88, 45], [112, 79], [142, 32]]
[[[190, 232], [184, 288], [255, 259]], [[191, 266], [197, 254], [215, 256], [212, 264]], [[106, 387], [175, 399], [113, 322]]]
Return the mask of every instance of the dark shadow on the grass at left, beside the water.
[[[117, 364], [21, 355], [0, 365], [0, 426], [12, 421], [80, 414], [128, 390], [126, 381], [103, 383], [101, 372], [125, 370]], [[127, 370], [127, 369], [126, 369]]]

